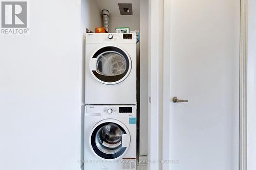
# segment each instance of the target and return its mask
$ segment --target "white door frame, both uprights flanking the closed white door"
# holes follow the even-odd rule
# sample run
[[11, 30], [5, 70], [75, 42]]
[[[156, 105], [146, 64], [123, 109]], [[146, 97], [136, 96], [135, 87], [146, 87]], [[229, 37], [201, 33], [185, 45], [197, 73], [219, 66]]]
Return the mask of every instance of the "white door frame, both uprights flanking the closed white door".
[[[170, 169], [170, 10], [172, 0], [149, 0], [148, 6], [148, 170]], [[164, 33], [164, 34], [163, 34]], [[240, 0], [239, 170], [247, 170], [247, 0]], [[164, 93], [163, 93], [164, 91]]]

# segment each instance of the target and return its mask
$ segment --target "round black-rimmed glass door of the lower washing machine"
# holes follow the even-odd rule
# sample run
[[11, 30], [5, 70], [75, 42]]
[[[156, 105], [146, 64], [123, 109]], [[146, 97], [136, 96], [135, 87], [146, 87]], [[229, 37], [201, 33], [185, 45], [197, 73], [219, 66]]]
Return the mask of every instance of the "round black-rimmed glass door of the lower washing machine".
[[91, 147], [93, 152], [103, 159], [116, 159], [127, 150], [126, 136], [127, 132], [120, 124], [113, 121], [100, 123], [92, 131]]

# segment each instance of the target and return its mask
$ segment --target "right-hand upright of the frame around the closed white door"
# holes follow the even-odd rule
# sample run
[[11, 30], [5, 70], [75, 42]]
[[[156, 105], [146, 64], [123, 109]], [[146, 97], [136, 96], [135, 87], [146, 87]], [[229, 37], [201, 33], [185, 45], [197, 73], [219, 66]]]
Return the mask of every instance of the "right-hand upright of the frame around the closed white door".
[[239, 170], [247, 170], [247, 0], [240, 0]]

